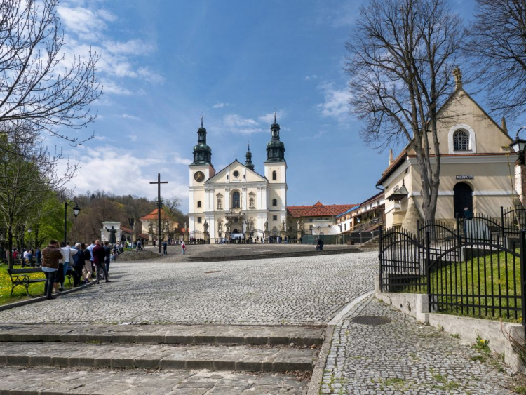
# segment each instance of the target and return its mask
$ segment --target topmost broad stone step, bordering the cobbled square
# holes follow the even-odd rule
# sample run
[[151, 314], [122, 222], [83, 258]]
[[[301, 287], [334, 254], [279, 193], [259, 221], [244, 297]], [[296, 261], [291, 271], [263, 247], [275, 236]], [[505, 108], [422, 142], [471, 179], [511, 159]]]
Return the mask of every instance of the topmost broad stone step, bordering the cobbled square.
[[[321, 346], [325, 329], [240, 325], [54, 325], [0, 323], [0, 342]], [[0, 343], [1, 344], [1, 343]]]

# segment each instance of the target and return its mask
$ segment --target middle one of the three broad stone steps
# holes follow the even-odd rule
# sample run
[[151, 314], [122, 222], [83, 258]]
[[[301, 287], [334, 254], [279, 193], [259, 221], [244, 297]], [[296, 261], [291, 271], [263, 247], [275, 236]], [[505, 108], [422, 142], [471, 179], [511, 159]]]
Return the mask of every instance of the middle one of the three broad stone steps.
[[317, 354], [309, 347], [1, 342], [0, 366], [311, 372]]

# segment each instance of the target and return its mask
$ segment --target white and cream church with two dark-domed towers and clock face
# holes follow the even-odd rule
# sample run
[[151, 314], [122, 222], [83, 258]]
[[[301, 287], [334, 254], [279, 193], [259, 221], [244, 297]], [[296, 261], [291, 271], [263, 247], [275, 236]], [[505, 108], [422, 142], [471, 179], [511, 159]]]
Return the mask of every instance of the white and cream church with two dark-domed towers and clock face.
[[287, 163], [276, 113], [270, 130], [264, 175], [254, 170], [250, 146], [244, 164], [236, 159], [216, 172], [201, 119], [194, 161], [189, 165], [189, 237], [202, 238], [208, 232], [211, 240], [256, 238], [285, 231]]

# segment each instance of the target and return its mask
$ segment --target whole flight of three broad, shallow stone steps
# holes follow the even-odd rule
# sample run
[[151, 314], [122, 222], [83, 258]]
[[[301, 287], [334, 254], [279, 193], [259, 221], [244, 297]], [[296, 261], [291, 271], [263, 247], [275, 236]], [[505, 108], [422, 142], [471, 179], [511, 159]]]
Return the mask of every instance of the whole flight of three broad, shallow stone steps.
[[0, 394], [305, 394], [323, 338], [295, 326], [0, 324]]

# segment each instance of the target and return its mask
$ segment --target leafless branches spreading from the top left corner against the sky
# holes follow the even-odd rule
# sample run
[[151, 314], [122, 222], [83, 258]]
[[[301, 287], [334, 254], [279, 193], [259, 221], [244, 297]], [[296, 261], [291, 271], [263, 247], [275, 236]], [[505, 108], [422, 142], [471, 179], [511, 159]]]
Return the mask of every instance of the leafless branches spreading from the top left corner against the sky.
[[58, 0], [0, 0], [0, 123], [24, 120], [32, 130], [76, 144], [78, 138], [57, 128], [82, 128], [95, 119], [88, 105], [102, 93], [98, 56], [90, 52], [64, 64], [57, 6]]

